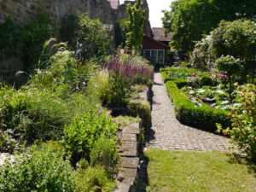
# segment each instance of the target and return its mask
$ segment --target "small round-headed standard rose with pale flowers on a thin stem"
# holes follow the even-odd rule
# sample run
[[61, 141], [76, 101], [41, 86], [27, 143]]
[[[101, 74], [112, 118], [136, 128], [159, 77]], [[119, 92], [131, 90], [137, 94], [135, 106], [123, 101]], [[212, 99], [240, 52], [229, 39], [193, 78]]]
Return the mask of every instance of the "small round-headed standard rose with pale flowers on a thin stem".
[[222, 73], [219, 74], [218, 77], [224, 80], [226, 79], [231, 88], [233, 79], [241, 71], [240, 59], [235, 59], [230, 55], [222, 55], [214, 62], [214, 65], [218, 67], [218, 71]]

